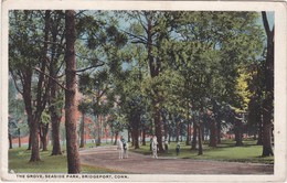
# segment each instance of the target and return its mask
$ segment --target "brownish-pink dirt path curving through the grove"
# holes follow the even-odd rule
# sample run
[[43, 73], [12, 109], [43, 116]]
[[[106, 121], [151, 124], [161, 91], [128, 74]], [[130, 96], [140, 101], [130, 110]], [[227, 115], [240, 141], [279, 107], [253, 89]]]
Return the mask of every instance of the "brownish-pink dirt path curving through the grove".
[[81, 162], [137, 174], [273, 174], [274, 168], [259, 163], [221, 162], [176, 158], [152, 159], [129, 152], [128, 159], [118, 159], [115, 146], [82, 150]]

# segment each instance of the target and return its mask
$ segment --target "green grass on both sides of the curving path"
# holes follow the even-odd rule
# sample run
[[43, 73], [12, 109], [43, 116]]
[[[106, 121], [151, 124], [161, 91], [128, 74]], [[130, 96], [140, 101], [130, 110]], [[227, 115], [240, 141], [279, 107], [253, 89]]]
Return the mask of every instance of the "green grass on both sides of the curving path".
[[[167, 159], [189, 159], [189, 160], [213, 160], [213, 161], [227, 161], [227, 162], [245, 162], [245, 163], [264, 163], [264, 164], [273, 164], [274, 157], [262, 158], [262, 146], [256, 146], [256, 141], [254, 140], [245, 140], [243, 141], [243, 147], [235, 147], [235, 142], [232, 140], [224, 140], [217, 148], [210, 148], [208, 143], [203, 146], [203, 155], [198, 155], [196, 150], [190, 150], [190, 146], [185, 146], [183, 142], [181, 143], [181, 152], [179, 155], [176, 154], [176, 142], [171, 142], [169, 146], [169, 152], [159, 154], [159, 158]], [[92, 144], [86, 144], [86, 150], [82, 149], [83, 152], [89, 152], [94, 150], [100, 150], [104, 147], [110, 147], [103, 144], [103, 148], [95, 148]], [[110, 147], [111, 148], [111, 147]], [[109, 149], [110, 149], [109, 148]], [[105, 149], [105, 148], [104, 148]], [[41, 151], [41, 162], [29, 162], [30, 160], [30, 151], [26, 148], [14, 148], [9, 150], [9, 170], [13, 170], [15, 173], [66, 173], [67, 172], [67, 161], [66, 154], [51, 157], [52, 147], [49, 147], [49, 151]], [[62, 148], [65, 150], [65, 148]], [[106, 151], [106, 150], [105, 150]], [[109, 150], [113, 155], [115, 155], [114, 160], [117, 160], [116, 148]], [[114, 151], [114, 152], [113, 152]], [[149, 142], [147, 146], [141, 146], [140, 149], [132, 149], [130, 147], [131, 152], [136, 152], [138, 154], [144, 154], [145, 157], [151, 157], [151, 152], [149, 151]], [[93, 155], [93, 154], [91, 154]], [[98, 157], [98, 154], [94, 154]], [[91, 157], [94, 163], [85, 163], [81, 165], [81, 173], [121, 173], [118, 169], [109, 169], [107, 166], [97, 164], [96, 157]], [[98, 157], [99, 158], [99, 157]], [[135, 158], [135, 155], [134, 155]], [[144, 157], [142, 157], [144, 158]], [[145, 158], [145, 159], [147, 159]], [[85, 159], [85, 158], [84, 158]], [[103, 161], [110, 161], [110, 157]], [[140, 159], [140, 158], [139, 158]], [[89, 162], [89, 161], [87, 161]], [[82, 162], [83, 163], [83, 162]], [[123, 163], [123, 162], [119, 162]]]

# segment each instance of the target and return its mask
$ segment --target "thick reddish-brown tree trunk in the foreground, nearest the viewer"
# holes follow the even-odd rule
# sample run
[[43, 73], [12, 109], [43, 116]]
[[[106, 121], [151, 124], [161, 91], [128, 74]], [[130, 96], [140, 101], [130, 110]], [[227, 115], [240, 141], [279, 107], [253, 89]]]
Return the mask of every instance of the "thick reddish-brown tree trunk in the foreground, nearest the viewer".
[[76, 60], [75, 60], [75, 11], [65, 11], [66, 31], [66, 90], [65, 90], [65, 128], [66, 128], [66, 151], [67, 151], [67, 172], [79, 173], [79, 155], [77, 147], [76, 130]]

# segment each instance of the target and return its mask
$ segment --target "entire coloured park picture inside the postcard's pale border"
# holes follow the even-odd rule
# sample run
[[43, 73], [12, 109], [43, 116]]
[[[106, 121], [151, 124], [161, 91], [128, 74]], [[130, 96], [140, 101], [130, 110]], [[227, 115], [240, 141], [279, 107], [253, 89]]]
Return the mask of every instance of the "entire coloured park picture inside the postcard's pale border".
[[8, 173], [273, 175], [274, 17], [9, 10]]

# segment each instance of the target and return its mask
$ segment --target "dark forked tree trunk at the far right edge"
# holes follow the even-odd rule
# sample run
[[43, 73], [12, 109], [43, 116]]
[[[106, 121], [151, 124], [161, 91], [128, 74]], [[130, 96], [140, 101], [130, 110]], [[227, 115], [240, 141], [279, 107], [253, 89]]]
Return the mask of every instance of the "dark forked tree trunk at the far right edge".
[[272, 127], [274, 110], [274, 29], [270, 30], [266, 12], [262, 12], [263, 24], [267, 35], [267, 55], [265, 64], [265, 99], [263, 101], [263, 157], [274, 155], [272, 148]]

